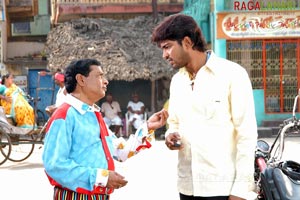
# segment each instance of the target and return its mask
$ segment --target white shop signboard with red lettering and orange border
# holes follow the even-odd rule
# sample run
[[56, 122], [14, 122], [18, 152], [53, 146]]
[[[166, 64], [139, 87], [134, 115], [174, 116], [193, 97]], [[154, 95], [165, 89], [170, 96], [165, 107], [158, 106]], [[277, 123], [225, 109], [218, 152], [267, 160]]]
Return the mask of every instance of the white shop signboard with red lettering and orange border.
[[218, 13], [217, 38], [299, 37], [300, 11]]

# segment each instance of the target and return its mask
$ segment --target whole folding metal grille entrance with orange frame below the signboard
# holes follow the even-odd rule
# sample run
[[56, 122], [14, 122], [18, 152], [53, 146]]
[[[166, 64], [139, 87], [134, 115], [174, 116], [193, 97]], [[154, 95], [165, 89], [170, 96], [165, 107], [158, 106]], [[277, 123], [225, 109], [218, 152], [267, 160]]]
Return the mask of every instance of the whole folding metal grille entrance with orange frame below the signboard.
[[264, 90], [265, 113], [292, 112], [300, 88], [300, 39], [227, 40], [226, 47], [227, 58], [247, 70], [253, 89]]

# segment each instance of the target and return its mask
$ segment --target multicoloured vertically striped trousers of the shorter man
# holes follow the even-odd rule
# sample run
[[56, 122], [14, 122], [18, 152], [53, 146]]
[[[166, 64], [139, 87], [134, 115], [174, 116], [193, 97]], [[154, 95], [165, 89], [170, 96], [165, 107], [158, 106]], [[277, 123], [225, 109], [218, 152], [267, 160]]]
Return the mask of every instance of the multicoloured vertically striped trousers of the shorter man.
[[54, 187], [53, 200], [109, 200], [107, 194], [82, 194], [71, 190]]

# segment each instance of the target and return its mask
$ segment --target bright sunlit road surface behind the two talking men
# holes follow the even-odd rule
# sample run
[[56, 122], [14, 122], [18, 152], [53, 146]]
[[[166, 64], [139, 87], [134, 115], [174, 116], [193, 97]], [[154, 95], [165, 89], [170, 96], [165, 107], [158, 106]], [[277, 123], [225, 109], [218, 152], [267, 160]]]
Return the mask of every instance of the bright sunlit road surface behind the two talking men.
[[[271, 142], [273, 138], [266, 139]], [[40, 148], [39, 148], [40, 147]], [[51, 200], [52, 187], [45, 176], [41, 161], [43, 146], [37, 145], [31, 157], [21, 163], [7, 161], [0, 166], [1, 199]], [[286, 141], [284, 157], [300, 162], [300, 138]], [[116, 190], [112, 200], [179, 200], [176, 190], [177, 153], [169, 151], [162, 141], [125, 163], [117, 170], [129, 181]]]

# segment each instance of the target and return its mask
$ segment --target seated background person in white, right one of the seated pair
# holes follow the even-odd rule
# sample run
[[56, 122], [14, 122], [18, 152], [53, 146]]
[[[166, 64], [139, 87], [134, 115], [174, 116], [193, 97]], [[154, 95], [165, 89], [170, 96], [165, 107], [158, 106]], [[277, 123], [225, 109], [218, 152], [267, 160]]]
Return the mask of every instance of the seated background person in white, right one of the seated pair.
[[129, 113], [129, 122], [137, 129], [145, 121], [145, 105], [139, 100], [139, 95], [137, 93], [132, 94], [132, 100], [128, 102], [127, 109]]

